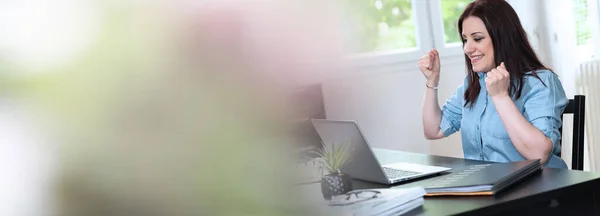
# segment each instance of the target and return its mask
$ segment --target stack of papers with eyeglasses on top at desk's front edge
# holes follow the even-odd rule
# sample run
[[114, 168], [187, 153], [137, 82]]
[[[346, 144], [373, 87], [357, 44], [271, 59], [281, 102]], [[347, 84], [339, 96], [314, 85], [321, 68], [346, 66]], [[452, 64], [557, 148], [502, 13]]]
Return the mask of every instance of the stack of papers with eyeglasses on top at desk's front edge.
[[425, 189], [381, 188], [355, 190], [348, 194], [350, 199], [347, 199], [348, 195], [341, 195], [329, 201], [331, 215], [402, 215], [423, 205]]

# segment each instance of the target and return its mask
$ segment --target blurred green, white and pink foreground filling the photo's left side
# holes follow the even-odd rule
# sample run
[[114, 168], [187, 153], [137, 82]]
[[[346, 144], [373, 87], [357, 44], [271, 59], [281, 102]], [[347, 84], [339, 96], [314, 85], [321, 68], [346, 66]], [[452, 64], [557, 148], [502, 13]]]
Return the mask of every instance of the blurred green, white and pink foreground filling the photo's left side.
[[336, 68], [339, 3], [2, 4], [0, 215], [318, 214], [285, 100]]

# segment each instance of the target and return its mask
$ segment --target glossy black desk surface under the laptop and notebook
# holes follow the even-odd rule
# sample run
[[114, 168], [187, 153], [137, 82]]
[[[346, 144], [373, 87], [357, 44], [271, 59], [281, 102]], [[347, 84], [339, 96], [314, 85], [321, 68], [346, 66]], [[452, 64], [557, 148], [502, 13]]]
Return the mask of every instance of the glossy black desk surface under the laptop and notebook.
[[[375, 149], [381, 163], [415, 162], [462, 168], [488, 163], [442, 156]], [[436, 177], [396, 185], [355, 180], [355, 189], [421, 186]], [[544, 168], [541, 173], [495, 196], [425, 197], [407, 215], [600, 215], [600, 173]]]

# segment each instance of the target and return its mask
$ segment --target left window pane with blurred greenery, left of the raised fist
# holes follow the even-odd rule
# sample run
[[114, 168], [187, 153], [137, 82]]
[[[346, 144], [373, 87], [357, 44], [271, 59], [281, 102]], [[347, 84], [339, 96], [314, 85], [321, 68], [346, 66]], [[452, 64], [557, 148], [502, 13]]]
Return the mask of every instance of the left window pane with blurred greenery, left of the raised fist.
[[417, 61], [433, 48], [426, 0], [350, 2], [351, 40], [345, 49], [351, 65]]

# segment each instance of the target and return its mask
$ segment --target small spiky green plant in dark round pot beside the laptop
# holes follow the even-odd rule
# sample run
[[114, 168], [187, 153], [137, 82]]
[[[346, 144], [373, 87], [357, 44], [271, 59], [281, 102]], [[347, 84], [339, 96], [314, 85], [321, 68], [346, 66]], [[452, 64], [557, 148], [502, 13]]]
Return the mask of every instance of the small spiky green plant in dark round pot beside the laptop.
[[321, 192], [326, 200], [332, 196], [345, 194], [352, 190], [352, 177], [342, 173], [341, 168], [350, 161], [348, 152], [349, 144], [340, 143], [336, 145], [325, 145], [317, 152], [320, 160], [319, 169], [321, 173], [327, 172], [321, 179]]

